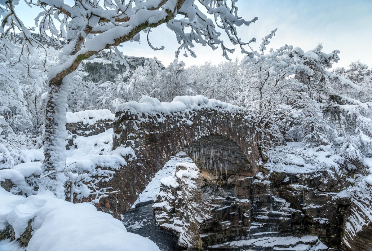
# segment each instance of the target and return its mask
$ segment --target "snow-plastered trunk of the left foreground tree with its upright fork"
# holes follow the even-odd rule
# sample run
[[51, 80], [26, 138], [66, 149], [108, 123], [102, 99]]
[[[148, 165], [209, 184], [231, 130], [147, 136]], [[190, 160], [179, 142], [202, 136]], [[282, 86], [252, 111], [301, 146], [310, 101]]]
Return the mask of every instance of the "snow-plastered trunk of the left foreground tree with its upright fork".
[[[93, 27], [84, 20], [82, 6], [76, 4], [70, 13], [71, 21], [68, 29], [72, 30], [67, 36], [67, 44], [64, 45], [60, 62], [49, 73], [49, 92], [46, 106], [45, 133], [44, 133], [44, 164], [43, 176], [40, 181], [40, 189], [53, 191], [59, 198], [65, 198], [64, 184], [68, 181], [66, 177], [67, 167], [65, 165], [66, 146], [66, 109], [67, 92], [69, 87], [68, 75], [76, 71], [85, 55], [63, 67], [73, 55], [77, 54], [86, 37]], [[97, 52], [96, 52], [97, 53]], [[94, 55], [94, 51], [87, 52]], [[62, 67], [61, 67], [62, 66]]]

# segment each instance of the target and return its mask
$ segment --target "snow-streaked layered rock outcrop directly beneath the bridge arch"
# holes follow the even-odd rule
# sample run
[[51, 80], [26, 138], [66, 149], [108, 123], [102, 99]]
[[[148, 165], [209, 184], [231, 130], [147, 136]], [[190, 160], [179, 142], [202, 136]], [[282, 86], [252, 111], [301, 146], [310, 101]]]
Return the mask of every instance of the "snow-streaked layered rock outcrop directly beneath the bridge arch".
[[188, 248], [247, 237], [251, 201], [230, 197], [231, 189], [218, 185], [200, 188], [205, 183], [202, 174], [195, 164], [185, 163], [176, 168], [175, 177], [163, 180], [164, 197], [153, 206], [157, 222], [179, 234], [179, 244]]

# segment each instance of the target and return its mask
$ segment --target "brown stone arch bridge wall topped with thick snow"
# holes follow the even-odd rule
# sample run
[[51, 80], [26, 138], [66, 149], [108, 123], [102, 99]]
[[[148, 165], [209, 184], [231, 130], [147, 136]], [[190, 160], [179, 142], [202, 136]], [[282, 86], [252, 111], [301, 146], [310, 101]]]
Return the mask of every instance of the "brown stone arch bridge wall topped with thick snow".
[[126, 156], [128, 164], [109, 181], [119, 192], [98, 206], [125, 212], [170, 156], [203, 136], [222, 135], [234, 141], [247, 156], [252, 173], [257, 173], [259, 151], [246, 115], [243, 107], [203, 96], [177, 96], [171, 103], [144, 97], [139, 103], [122, 104], [115, 115], [113, 149], [131, 147], [134, 154]]

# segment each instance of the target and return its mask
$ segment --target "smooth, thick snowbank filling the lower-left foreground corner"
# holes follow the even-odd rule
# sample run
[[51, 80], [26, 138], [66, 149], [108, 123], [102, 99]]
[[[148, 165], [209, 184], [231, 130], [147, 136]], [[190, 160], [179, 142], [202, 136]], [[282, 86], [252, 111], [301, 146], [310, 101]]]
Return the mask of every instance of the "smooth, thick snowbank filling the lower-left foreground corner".
[[[28, 251], [159, 250], [150, 239], [128, 233], [121, 221], [89, 203], [73, 204], [47, 191], [25, 198], [3, 188], [0, 201], [0, 230], [12, 225], [19, 238], [33, 219]], [[1, 244], [7, 248], [7, 243]]]

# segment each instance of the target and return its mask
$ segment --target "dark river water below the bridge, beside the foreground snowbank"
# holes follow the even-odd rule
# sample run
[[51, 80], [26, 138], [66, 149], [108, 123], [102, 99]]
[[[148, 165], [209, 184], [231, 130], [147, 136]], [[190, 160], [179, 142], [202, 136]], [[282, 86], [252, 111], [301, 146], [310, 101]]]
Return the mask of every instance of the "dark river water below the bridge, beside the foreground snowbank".
[[161, 251], [185, 250], [177, 245], [178, 236], [156, 225], [152, 205], [137, 207], [134, 212], [126, 213], [123, 222], [128, 232], [151, 239]]

